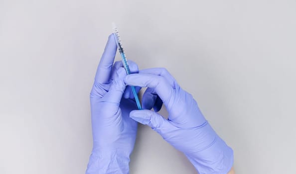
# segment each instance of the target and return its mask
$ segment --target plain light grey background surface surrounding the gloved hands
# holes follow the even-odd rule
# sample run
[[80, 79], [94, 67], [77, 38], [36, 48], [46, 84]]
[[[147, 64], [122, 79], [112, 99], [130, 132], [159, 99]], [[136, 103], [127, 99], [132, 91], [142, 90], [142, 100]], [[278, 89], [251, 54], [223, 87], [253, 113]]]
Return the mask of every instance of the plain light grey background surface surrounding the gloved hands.
[[[237, 174], [296, 174], [295, 0], [0, 0], [1, 174], [85, 172], [112, 21], [129, 59], [193, 94]], [[195, 174], [143, 125], [131, 160], [131, 174]]]

